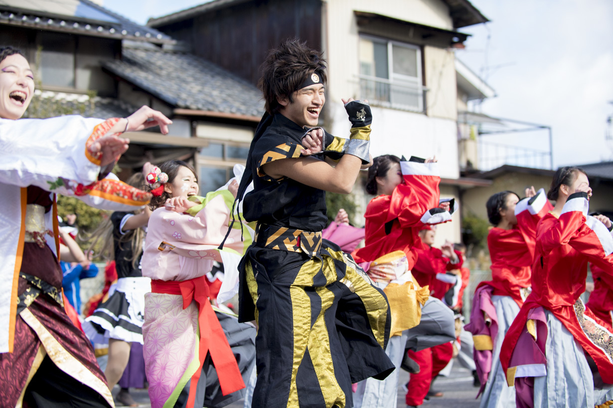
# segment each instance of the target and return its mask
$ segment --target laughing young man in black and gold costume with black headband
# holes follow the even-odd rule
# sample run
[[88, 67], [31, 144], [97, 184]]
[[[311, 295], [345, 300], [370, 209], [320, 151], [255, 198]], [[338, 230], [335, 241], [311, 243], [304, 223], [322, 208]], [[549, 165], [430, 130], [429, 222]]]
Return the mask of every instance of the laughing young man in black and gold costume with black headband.
[[325, 84], [321, 53], [298, 40], [270, 51], [262, 65], [266, 114], [238, 190], [242, 197], [253, 179], [244, 216], [257, 220], [256, 239], [239, 267], [239, 319], [259, 325], [254, 407], [351, 407], [352, 383], [394, 369], [384, 352], [383, 291], [321, 237], [326, 191], [351, 192], [370, 163], [372, 119], [367, 102], [349, 98], [348, 139], [311, 129]]

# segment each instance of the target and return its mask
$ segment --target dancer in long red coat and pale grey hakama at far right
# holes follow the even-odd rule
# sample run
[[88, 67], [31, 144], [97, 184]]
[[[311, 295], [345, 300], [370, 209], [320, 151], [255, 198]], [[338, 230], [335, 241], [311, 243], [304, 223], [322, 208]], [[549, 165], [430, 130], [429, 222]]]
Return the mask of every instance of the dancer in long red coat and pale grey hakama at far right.
[[588, 261], [613, 273], [613, 226], [587, 215], [591, 195], [581, 169], [555, 173], [547, 194], [555, 208], [537, 227], [532, 292], [500, 352], [518, 407], [613, 404], [613, 333], [579, 297]]

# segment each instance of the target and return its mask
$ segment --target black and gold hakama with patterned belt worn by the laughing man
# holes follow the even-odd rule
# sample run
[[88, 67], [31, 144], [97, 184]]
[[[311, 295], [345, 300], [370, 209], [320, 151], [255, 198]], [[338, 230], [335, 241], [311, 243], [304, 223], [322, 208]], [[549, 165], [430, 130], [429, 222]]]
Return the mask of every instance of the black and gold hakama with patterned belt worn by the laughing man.
[[394, 370], [383, 291], [321, 232], [261, 224], [242, 265], [259, 325], [252, 406], [352, 407], [352, 383]]

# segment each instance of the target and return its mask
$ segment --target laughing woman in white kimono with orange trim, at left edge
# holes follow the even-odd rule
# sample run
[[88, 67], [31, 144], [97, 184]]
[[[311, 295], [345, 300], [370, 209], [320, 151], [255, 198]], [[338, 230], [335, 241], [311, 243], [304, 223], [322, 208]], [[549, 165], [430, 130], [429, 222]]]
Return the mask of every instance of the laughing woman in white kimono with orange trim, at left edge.
[[103, 209], [146, 204], [147, 193], [104, 177], [128, 149], [122, 132], [159, 125], [167, 133], [171, 122], [147, 106], [107, 121], [20, 119], [32, 94], [26, 58], [0, 48], [0, 401], [113, 406], [91, 343], [63, 308], [55, 195]]

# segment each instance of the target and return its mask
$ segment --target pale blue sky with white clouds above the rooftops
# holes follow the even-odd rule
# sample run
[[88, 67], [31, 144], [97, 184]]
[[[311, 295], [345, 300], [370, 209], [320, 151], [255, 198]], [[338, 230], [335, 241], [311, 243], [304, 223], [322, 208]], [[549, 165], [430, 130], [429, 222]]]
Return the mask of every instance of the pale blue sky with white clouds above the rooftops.
[[[203, 0], [104, 0], [140, 24]], [[456, 56], [497, 97], [477, 109], [491, 116], [549, 125], [554, 166], [613, 160], [605, 141], [613, 114], [613, 1], [471, 0], [491, 21], [459, 29], [472, 34]], [[547, 133], [489, 136], [547, 149]]]

